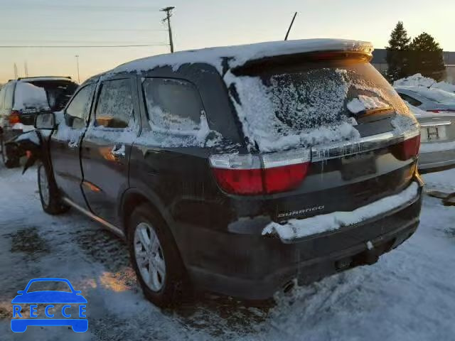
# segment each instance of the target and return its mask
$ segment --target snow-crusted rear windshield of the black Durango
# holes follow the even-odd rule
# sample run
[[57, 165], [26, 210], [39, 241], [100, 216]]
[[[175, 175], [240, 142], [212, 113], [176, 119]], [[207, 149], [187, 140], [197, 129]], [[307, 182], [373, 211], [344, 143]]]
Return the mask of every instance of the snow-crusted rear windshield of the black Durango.
[[408, 112], [384, 77], [358, 60], [281, 65], [232, 83], [245, 134], [262, 151], [350, 139], [354, 119], [370, 109]]

